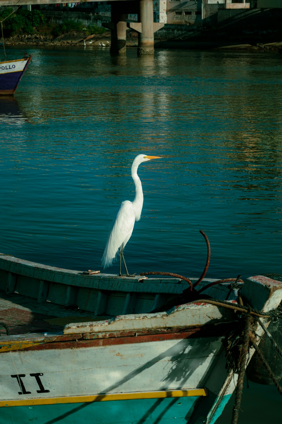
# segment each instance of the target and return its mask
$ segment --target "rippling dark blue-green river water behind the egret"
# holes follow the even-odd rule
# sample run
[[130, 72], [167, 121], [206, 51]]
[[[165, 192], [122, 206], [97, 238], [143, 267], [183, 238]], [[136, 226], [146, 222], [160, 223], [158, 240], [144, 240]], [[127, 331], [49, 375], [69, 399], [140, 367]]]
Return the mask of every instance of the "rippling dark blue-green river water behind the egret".
[[[29, 52], [15, 99], [0, 99], [0, 251], [101, 269], [112, 218], [134, 198], [131, 163], [147, 153], [163, 159], [139, 167], [144, 206], [125, 250], [129, 272], [200, 276], [200, 229], [208, 277], [282, 272], [281, 56]], [[275, 389], [258, 387], [250, 393], [278, 411]], [[265, 423], [260, 413], [250, 421], [248, 405], [239, 422]]]

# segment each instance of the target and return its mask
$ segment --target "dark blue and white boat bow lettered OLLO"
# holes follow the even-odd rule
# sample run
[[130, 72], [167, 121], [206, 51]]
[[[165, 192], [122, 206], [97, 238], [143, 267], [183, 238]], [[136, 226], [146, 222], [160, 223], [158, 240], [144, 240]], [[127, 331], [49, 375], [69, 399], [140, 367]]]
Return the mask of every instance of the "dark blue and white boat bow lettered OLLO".
[[0, 62], [0, 95], [14, 95], [32, 55]]

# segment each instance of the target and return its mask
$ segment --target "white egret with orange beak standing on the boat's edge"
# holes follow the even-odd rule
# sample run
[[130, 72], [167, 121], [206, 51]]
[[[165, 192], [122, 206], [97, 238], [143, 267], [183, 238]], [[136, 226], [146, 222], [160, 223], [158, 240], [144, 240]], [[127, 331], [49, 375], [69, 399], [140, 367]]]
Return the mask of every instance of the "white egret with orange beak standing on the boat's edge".
[[137, 168], [140, 163], [147, 162], [151, 159], [160, 159], [160, 156], [148, 156], [146, 154], [140, 154], [134, 159], [131, 166], [131, 177], [135, 184], [135, 198], [133, 202], [125, 200], [120, 205], [120, 209], [118, 210], [112, 229], [109, 233], [107, 245], [102, 257], [102, 265], [104, 268], [106, 268], [112, 265], [112, 262], [119, 250], [120, 276], [121, 259], [123, 260], [126, 276], [129, 276], [123, 256], [123, 249], [131, 237], [135, 221], [140, 220], [143, 206], [142, 184], [139, 176], [137, 175]]

